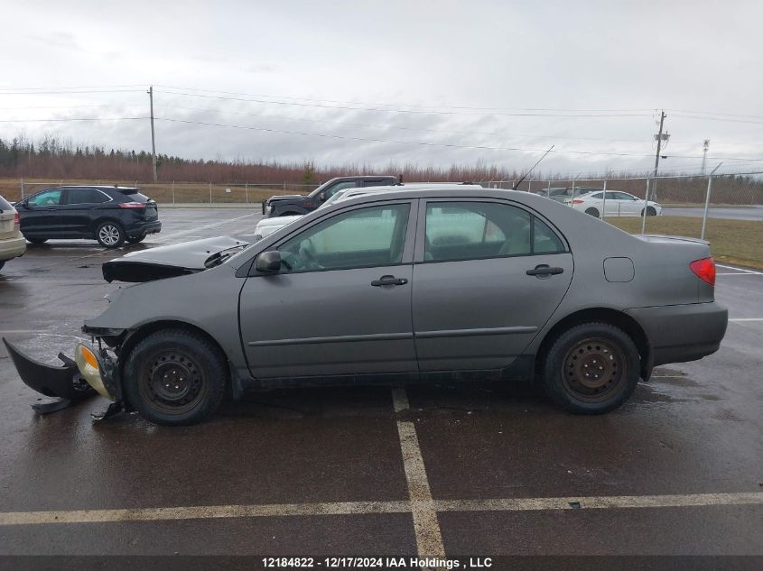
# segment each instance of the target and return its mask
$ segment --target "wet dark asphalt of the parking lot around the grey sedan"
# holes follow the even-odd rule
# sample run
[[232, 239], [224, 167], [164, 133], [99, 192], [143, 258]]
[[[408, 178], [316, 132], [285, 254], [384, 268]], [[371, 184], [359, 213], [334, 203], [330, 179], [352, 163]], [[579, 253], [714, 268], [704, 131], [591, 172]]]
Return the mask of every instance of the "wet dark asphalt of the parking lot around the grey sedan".
[[[0, 273], [0, 335], [53, 363], [116, 285], [123, 253], [249, 234], [258, 207], [164, 208], [163, 232], [113, 252], [30, 246]], [[719, 267], [732, 319], [763, 318], [763, 272]], [[763, 493], [763, 321], [732, 321], [721, 350], [656, 369], [622, 409], [578, 417], [532, 387], [386, 387], [247, 395], [209, 422], [94, 423], [94, 398], [39, 416], [41, 395], [0, 348], [0, 520], [15, 511], [405, 501], [399, 421], [413, 422], [434, 501]], [[44, 399], [43, 399], [44, 401]], [[763, 504], [437, 514], [451, 555], [763, 555]], [[411, 513], [0, 525], [0, 555], [412, 555]]]

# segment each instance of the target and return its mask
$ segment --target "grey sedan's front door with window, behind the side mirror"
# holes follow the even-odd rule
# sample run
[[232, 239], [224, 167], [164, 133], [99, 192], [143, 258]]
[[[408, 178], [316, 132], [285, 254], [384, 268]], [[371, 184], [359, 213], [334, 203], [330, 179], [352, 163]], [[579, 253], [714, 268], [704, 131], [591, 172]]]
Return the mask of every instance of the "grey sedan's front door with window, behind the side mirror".
[[412, 201], [356, 207], [275, 244], [281, 271], [253, 275], [241, 290], [241, 340], [251, 373], [415, 372], [415, 216]]

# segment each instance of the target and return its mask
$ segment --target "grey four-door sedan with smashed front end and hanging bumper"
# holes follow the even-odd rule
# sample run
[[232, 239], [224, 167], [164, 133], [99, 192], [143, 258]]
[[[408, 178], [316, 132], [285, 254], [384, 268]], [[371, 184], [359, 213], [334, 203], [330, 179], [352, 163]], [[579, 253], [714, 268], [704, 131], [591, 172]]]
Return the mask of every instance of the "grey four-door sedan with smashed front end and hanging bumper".
[[208, 418], [226, 391], [442, 379], [538, 377], [564, 409], [597, 414], [656, 365], [715, 352], [728, 321], [706, 242], [498, 189], [391, 188], [187, 275], [161, 267], [85, 320], [104, 346], [80, 343], [69, 369], [6, 342], [24, 382], [81, 374], [112, 411], [167, 425]]

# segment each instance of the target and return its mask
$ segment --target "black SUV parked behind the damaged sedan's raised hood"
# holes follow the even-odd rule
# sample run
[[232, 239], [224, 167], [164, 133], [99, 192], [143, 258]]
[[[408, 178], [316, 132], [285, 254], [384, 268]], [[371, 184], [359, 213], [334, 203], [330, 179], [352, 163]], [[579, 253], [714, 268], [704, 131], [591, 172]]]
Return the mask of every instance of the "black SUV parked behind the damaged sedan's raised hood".
[[57, 187], [17, 202], [21, 231], [32, 244], [55, 238], [95, 238], [117, 248], [162, 230], [159, 209], [138, 189]]

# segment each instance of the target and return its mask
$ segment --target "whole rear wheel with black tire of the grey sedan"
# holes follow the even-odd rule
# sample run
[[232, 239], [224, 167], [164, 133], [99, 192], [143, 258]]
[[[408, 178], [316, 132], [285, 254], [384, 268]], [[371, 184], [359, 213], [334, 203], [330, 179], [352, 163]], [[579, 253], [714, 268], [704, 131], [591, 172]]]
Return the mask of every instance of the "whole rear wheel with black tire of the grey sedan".
[[551, 345], [543, 366], [546, 394], [576, 414], [619, 408], [636, 390], [639, 378], [636, 344], [607, 323], [585, 323], [565, 331]]

